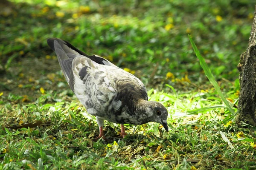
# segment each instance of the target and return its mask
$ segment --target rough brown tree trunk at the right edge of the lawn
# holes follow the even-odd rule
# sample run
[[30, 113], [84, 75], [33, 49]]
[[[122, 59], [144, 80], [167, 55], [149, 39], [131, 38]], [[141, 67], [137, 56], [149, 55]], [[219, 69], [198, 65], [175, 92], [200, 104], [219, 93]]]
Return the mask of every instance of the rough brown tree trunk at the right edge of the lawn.
[[256, 126], [256, 8], [247, 50], [241, 54], [239, 70], [240, 95], [236, 121]]

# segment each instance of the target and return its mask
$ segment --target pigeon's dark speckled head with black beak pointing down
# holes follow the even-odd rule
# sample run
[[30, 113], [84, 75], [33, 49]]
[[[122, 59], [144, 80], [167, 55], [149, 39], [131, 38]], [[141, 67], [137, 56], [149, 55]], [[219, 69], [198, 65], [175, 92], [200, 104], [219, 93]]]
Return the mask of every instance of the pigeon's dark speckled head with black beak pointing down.
[[151, 121], [160, 123], [168, 132], [168, 125], [166, 121], [168, 116], [167, 109], [159, 102], [148, 101], [148, 104], [149, 109], [147, 109], [146, 112], [148, 112], [149, 115], [152, 115]]

